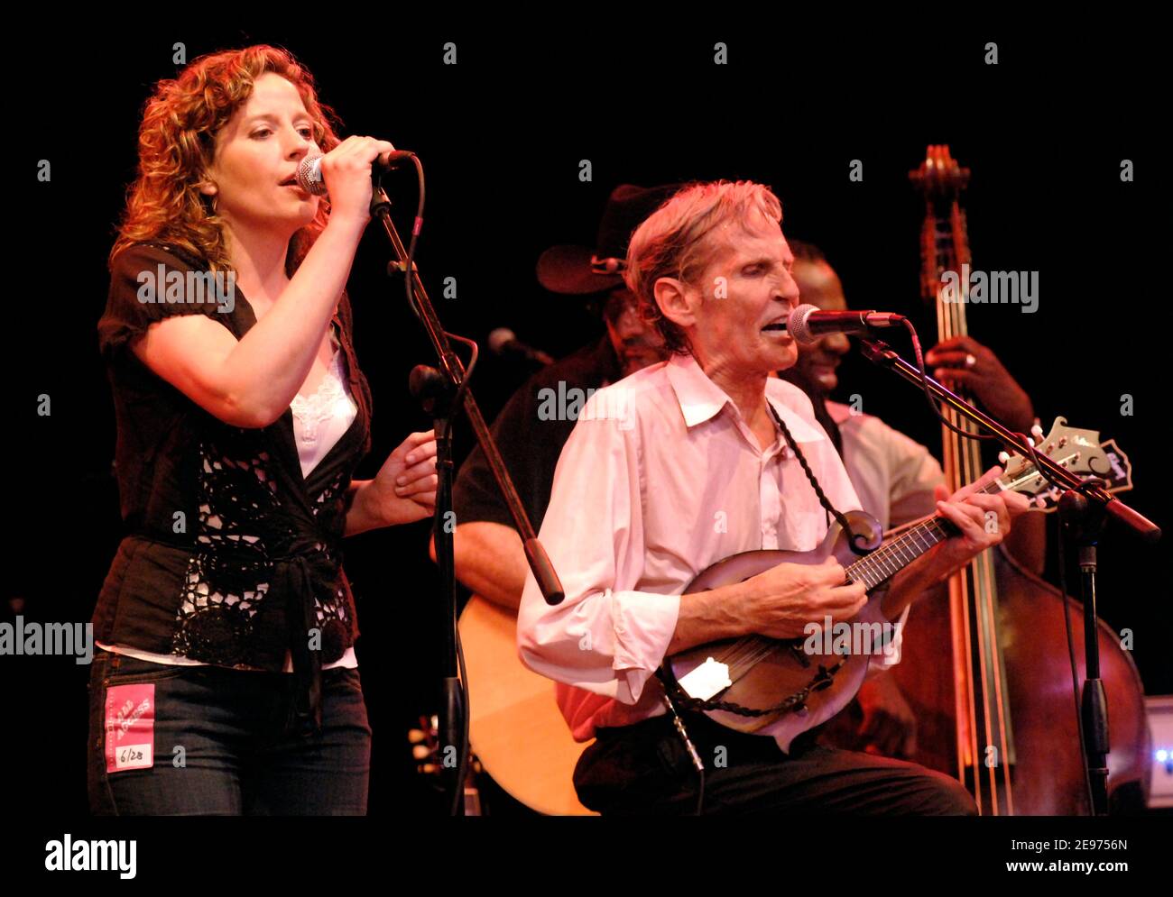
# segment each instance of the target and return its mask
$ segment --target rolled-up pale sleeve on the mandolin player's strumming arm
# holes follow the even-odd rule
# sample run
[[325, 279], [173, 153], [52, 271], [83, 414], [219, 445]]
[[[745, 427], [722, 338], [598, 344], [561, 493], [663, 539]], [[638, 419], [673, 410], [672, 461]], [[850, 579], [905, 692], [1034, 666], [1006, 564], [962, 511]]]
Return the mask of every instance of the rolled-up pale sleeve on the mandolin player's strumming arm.
[[635, 704], [667, 652], [680, 598], [632, 587], [645, 553], [638, 430], [601, 409], [599, 395], [562, 449], [538, 534], [565, 599], [549, 606], [529, 575], [517, 650], [536, 673]]

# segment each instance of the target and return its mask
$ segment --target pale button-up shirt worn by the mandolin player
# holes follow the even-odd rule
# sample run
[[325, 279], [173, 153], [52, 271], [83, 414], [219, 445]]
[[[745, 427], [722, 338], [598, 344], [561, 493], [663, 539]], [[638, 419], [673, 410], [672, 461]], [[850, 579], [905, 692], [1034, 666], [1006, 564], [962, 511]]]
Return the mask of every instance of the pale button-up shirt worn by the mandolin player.
[[[811, 400], [777, 378], [766, 399], [840, 511], [860, 502]], [[599, 389], [558, 458], [540, 538], [565, 600], [530, 575], [517, 619], [522, 661], [558, 682], [575, 739], [664, 713], [655, 678], [680, 594], [741, 551], [809, 551], [827, 514], [781, 431], [759, 448], [734, 402], [691, 355]], [[891, 660], [874, 657], [873, 666]]]

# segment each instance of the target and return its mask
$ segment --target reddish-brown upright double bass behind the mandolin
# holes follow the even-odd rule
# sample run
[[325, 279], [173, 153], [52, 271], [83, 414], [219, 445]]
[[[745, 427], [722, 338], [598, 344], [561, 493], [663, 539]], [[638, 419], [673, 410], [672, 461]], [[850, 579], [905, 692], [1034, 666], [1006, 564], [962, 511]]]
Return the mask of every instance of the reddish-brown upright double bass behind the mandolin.
[[[957, 272], [964, 286], [962, 265], [970, 264], [960, 201], [969, 170], [941, 145], [929, 147], [909, 176], [924, 197], [922, 295], [936, 306], [938, 339], [963, 335], [967, 304], [944, 300], [942, 278]], [[976, 429], [943, 412], [960, 429]], [[949, 488], [977, 480], [981, 444], [947, 427], [942, 436]], [[1082, 686], [1083, 611], [1073, 598], [1067, 603]], [[913, 760], [956, 776], [983, 815], [1090, 813], [1063, 610], [1060, 592], [1003, 544], [951, 577], [948, 603], [923, 600], [910, 613], [894, 674], [918, 723]], [[1144, 806], [1147, 790], [1144, 689], [1119, 636], [1103, 620], [1098, 641], [1111, 735], [1110, 809], [1127, 811]]]

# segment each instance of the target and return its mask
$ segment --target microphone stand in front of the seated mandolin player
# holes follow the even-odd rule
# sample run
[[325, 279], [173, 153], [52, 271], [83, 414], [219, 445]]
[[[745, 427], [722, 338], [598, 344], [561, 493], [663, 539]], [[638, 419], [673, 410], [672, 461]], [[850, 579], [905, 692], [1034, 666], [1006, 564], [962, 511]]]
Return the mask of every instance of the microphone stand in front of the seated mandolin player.
[[1045, 468], [1047, 478], [1066, 487], [1059, 500], [1059, 516], [1063, 521], [1065, 537], [1079, 552], [1080, 585], [1084, 605], [1084, 687], [1080, 698], [1080, 714], [1084, 727], [1084, 766], [1087, 780], [1091, 782], [1092, 815], [1107, 815], [1107, 693], [1104, 680], [1100, 679], [1098, 623], [1096, 619], [1096, 544], [1099, 541], [1104, 522], [1108, 516], [1128, 526], [1146, 543], [1154, 543], [1161, 537], [1160, 528], [1152, 521], [1134, 511], [1101, 487], [1082, 481], [1046, 455], [1032, 450], [1022, 434], [1013, 433], [996, 419], [979, 412], [972, 405], [950, 392], [928, 374], [921, 374], [920, 368], [908, 363], [887, 344], [880, 340], [860, 340], [863, 356], [887, 367], [908, 382], [922, 389], [928, 386], [943, 405], [952, 408], [961, 416], [984, 427], [1008, 448], [1024, 457], [1030, 457], [1040, 468]]

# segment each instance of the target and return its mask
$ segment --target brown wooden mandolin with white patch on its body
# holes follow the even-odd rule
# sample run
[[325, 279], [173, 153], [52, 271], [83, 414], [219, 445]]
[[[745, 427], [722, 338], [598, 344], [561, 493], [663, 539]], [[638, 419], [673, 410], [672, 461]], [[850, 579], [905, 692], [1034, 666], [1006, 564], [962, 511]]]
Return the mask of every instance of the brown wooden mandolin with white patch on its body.
[[[1082, 476], [1103, 476], [1113, 464], [1126, 473], [1127, 458], [1114, 444], [1112, 448], [1110, 460], [1098, 433], [1070, 428], [1057, 417], [1039, 451]], [[1116, 482], [1127, 480], [1127, 475], [1113, 477]], [[981, 491], [1011, 490], [1036, 497], [1050, 488], [1031, 461], [1015, 455], [1002, 476]], [[1045, 504], [1036, 507], [1042, 510]], [[744, 551], [704, 570], [685, 592], [739, 583], [780, 563], [820, 564], [834, 557], [843, 565], [847, 584], [863, 583], [872, 593], [957, 534], [950, 521], [935, 516], [883, 541], [880, 525], [863, 511], [849, 511], [845, 517], [852, 531], [843, 532], [834, 523], [813, 551]], [[855, 553], [853, 542], [867, 553]], [[891, 624], [880, 610], [881, 599], [882, 591], [872, 594], [853, 620], [821, 631], [816, 627], [807, 638], [747, 636], [697, 645], [665, 658], [660, 679], [678, 708], [701, 711], [738, 732], [773, 736], [785, 750], [798, 735], [847, 706], [863, 682], [873, 654], [893, 650]]]

